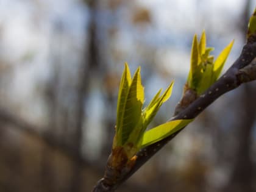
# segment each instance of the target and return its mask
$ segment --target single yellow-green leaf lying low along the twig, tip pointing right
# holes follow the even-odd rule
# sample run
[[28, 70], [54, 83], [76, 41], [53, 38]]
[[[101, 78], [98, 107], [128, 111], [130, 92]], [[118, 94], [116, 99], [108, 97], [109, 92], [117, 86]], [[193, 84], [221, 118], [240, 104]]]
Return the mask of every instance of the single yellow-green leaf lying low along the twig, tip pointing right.
[[157, 141], [163, 140], [172, 133], [175, 133], [183, 127], [187, 126], [187, 124], [189, 124], [191, 121], [193, 121], [193, 119], [179, 119], [169, 121], [148, 130], [144, 133], [139, 148], [144, 148], [150, 144], [156, 143]]

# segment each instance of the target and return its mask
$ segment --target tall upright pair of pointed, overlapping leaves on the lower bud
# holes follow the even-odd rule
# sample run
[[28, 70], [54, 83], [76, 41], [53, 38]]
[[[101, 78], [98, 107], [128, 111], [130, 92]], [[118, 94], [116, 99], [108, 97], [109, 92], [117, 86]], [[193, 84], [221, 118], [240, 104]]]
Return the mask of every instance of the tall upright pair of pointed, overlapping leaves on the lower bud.
[[130, 133], [140, 120], [143, 100], [144, 90], [141, 85], [140, 68], [137, 69], [131, 80], [130, 70], [126, 64], [118, 93], [116, 118], [117, 146], [127, 141]]

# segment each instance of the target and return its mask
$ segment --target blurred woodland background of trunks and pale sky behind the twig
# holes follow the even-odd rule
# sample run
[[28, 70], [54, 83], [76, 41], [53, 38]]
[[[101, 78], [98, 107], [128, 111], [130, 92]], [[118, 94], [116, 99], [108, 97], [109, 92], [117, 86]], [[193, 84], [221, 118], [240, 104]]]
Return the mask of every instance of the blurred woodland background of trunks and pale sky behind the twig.
[[[205, 29], [240, 54], [255, 0], [0, 0], [0, 191], [91, 191], [103, 176], [119, 79], [140, 65], [146, 104], [175, 79], [171, 118]], [[215, 57], [216, 58], [216, 57]], [[117, 191], [256, 191], [255, 82], [207, 108]]]

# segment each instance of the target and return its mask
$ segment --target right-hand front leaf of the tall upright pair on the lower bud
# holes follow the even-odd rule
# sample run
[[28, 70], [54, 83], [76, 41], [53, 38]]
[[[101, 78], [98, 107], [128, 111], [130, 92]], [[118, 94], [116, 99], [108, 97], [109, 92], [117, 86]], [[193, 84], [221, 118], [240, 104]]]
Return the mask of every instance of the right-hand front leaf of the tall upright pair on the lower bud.
[[130, 133], [137, 126], [141, 118], [141, 108], [144, 100], [144, 89], [141, 85], [140, 68], [135, 72], [132, 83], [130, 84], [129, 91], [123, 104], [123, 116], [119, 124], [119, 131], [121, 130], [122, 141], [126, 143]]

